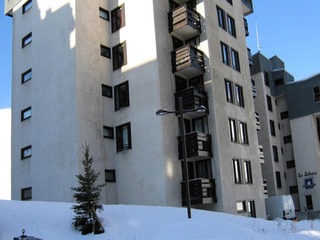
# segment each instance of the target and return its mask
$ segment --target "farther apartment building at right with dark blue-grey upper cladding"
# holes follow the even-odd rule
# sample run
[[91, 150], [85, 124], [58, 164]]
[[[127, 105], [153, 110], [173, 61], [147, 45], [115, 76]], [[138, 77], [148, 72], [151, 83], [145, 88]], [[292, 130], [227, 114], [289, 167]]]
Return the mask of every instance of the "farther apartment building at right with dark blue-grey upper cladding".
[[291, 194], [296, 210], [319, 210], [320, 75], [294, 81], [279, 57], [260, 52], [251, 74], [268, 195]]

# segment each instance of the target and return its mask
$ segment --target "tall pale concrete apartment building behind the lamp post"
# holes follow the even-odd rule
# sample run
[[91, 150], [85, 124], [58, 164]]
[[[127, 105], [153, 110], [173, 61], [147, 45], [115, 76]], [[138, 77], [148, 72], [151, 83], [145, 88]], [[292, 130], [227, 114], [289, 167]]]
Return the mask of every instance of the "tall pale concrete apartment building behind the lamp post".
[[5, 1], [13, 18], [12, 198], [73, 201], [88, 143], [103, 203], [265, 217], [250, 0]]

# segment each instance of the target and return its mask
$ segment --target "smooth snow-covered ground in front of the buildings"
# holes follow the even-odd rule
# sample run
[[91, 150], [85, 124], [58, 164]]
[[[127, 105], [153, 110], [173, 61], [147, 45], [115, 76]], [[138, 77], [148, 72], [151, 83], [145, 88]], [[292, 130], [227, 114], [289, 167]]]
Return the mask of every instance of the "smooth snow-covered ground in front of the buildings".
[[0, 239], [26, 235], [44, 240], [250, 240], [320, 239], [320, 221], [266, 221], [185, 208], [105, 205], [106, 232], [81, 235], [69, 203], [0, 200]]

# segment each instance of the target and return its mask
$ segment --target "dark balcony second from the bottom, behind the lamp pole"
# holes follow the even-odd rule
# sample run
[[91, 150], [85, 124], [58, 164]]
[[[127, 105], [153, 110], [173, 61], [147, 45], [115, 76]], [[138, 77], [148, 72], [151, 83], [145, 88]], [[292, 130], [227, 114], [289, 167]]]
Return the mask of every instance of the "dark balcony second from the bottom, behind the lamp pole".
[[[211, 135], [191, 132], [186, 135], [187, 160], [196, 161], [212, 157]], [[179, 160], [183, 159], [181, 137], [178, 137]]]

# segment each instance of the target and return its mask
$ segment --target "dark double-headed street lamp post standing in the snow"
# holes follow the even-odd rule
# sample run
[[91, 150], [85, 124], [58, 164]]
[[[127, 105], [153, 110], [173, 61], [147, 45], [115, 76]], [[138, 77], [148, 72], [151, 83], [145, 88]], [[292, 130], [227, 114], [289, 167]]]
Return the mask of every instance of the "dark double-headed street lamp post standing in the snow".
[[204, 107], [202, 105], [200, 105], [194, 109], [184, 110], [182, 97], [179, 97], [179, 110], [178, 111], [169, 111], [165, 108], [161, 108], [156, 112], [157, 116], [164, 116], [164, 115], [171, 114], [171, 113], [178, 113], [180, 116], [179, 126], [180, 126], [180, 135], [181, 135], [181, 144], [182, 144], [183, 172], [184, 172], [184, 176], [185, 176], [185, 191], [186, 191], [188, 218], [191, 218], [191, 200], [190, 200], [187, 147], [186, 147], [186, 137], [185, 137], [185, 130], [184, 130], [183, 114], [188, 113], [188, 112], [204, 113], [205, 111], [206, 111], [206, 107]]

